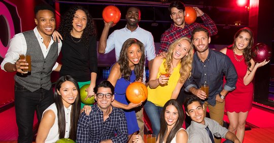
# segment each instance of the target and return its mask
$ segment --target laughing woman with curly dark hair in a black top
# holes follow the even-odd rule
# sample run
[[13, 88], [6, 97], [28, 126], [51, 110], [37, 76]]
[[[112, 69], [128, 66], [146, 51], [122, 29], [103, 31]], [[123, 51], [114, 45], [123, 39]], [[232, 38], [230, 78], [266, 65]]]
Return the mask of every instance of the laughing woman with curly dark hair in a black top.
[[[64, 38], [62, 43], [62, 67], [60, 76], [73, 76], [81, 88], [86, 89], [88, 97], [94, 95], [97, 76], [96, 30], [89, 12], [81, 6], [70, 8], [62, 17], [58, 32]], [[84, 104], [81, 104], [83, 107]]]

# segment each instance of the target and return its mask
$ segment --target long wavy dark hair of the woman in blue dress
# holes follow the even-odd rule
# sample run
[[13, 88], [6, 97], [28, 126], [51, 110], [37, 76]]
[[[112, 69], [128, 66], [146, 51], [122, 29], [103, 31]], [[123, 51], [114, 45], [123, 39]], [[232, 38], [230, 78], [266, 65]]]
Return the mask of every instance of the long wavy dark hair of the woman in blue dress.
[[120, 71], [124, 79], [129, 80], [131, 75], [131, 70], [129, 68], [129, 62], [128, 62], [128, 56], [127, 56], [127, 50], [128, 47], [130, 47], [132, 44], [137, 44], [140, 46], [142, 51], [142, 57], [137, 65], [134, 67], [134, 72], [136, 75], [135, 80], [143, 80], [143, 73], [144, 73], [144, 66], [145, 66], [145, 46], [144, 44], [135, 38], [129, 38], [127, 39], [123, 45], [122, 50], [120, 52], [120, 58], [117, 61], [120, 65]]

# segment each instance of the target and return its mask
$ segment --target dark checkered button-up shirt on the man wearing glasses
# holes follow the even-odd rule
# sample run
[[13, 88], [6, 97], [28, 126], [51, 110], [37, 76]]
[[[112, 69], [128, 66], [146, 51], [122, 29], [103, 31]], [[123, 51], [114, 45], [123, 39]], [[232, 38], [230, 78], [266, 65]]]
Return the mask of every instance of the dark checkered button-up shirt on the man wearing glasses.
[[77, 142], [126, 142], [128, 138], [125, 114], [121, 109], [112, 107], [109, 118], [104, 122], [103, 113], [97, 105], [87, 116], [81, 114], [77, 127]]

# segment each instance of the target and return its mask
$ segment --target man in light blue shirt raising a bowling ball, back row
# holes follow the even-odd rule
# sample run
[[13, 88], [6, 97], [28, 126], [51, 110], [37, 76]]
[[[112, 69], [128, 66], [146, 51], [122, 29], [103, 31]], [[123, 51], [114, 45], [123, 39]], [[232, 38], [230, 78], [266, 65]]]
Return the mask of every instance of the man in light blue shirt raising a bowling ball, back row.
[[[130, 7], [126, 12], [126, 26], [125, 28], [115, 30], [107, 38], [109, 30], [115, 24], [113, 22], [105, 22], [105, 27], [102, 31], [99, 44], [98, 53], [107, 54], [115, 49], [116, 61], [118, 61], [123, 43], [128, 38], [136, 38], [140, 40], [145, 46], [145, 56], [148, 59], [148, 66], [151, 69], [152, 61], [156, 57], [154, 39], [152, 34], [139, 27], [138, 23], [141, 20], [141, 11], [137, 7]], [[144, 67], [144, 78], [143, 82], [146, 81], [146, 72]], [[144, 135], [144, 120], [143, 120], [143, 107], [136, 108], [136, 117], [138, 120], [138, 126], [140, 128], [140, 135]]]

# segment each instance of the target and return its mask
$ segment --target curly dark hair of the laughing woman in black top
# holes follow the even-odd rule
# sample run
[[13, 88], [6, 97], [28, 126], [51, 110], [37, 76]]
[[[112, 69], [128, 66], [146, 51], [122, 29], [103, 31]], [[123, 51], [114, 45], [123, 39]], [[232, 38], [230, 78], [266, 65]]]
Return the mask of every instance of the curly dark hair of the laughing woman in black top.
[[88, 47], [89, 36], [96, 36], [96, 27], [95, 23], [92, 19], [92, 16], [89, 14], [88, 10], [84, 9], [81, 6], [73, 6], [71, 7], [62, 17], [60, 27], [58, 28], [58, 32], [62, 35], [65, 40], [67, 35], [71, 34], [73, 29], [73, 18], [77, 10], [82, 10], [87, 15], [87, 26], [83, 31], [81, 38], [84, 41], [86, 47]]

